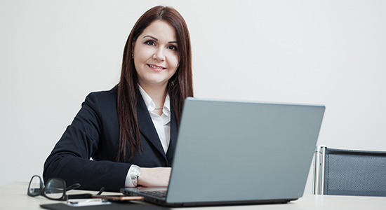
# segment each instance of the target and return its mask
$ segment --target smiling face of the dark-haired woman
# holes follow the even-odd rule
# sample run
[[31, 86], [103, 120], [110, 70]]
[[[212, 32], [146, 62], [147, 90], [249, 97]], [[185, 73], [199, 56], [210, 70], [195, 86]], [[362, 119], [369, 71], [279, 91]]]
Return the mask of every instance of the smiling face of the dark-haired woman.
[[155, 20], [138, 36], [133, 46], [134, 66], [141, 87], [166, 87], [180, 63], [173, 27]]

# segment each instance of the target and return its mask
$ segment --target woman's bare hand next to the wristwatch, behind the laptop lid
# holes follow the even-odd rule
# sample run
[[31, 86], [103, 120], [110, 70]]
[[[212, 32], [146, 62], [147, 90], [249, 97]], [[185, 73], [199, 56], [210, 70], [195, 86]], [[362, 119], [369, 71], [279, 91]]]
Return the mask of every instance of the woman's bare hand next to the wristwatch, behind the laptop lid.
[[171, 178], [171, 167], [140, 168], [138, 186], [167, 187]]

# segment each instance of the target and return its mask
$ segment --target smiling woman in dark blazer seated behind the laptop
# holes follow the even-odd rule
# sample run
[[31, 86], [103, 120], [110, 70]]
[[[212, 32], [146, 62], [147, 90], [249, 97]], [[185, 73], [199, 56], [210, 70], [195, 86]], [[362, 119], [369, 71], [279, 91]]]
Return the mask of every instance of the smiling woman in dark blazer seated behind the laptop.
[[128, 36], [119, 84], [88, 94], [48, 156], [44, 179], [86, 190], [168, 186], [183, 102], [192, 96], [185, 20], [173, 8], [151, 8]]

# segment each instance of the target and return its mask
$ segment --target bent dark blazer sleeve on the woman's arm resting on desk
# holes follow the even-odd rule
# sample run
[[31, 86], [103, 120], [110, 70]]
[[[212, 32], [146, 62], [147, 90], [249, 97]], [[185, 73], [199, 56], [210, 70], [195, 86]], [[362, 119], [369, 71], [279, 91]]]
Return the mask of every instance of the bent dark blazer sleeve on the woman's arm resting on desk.
[[[84, 190], [100, 190], [105, 187], [109, 191], [119, 191], [125, 186], [131, 164], [114, 162], [114, 160], [108, 160], [109, 158], [90, 160], [95, 153], [100, 153], [98, 146], [100, 141], [105, 141], [106, 132], [113, 132], [118, 137], [116, 131], [111, 131], [104, 125], [112, 124], [111, 122], [115, 120], [108, 115], [113, 113], [112, 116], [114, 116], [114, 112], [117, 113], [117, 108], [114, 107], [116, 100], [106, 104], [105, 100], [109, 98], [102, 100], [98, 96], [100, 96], [98, 93], [88, 94], [72, 124], [67, 127], [51, 155], [48, 156], [44, 164], [45, 181], [51, 177], [59, 177], [66, 181], [67, 186], [80, 183], [81, 189]], [[111, 122], [106, 122], [106, 119]], [[118, 130], [117, 127], [115, 129]], [[103, 153], [116, 157], [117, 150], [110, 148]]]

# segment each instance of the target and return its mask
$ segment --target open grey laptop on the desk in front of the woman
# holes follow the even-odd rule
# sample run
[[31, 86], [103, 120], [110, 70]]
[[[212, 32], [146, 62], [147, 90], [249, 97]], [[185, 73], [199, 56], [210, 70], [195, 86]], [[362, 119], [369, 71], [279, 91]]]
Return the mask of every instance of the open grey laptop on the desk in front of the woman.
[[297, 200], [324, 110], [187, 98], [168, 188], [122, 188], [121, 193], [168, 207]]

